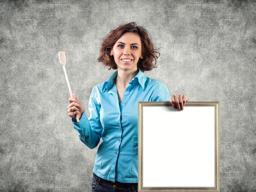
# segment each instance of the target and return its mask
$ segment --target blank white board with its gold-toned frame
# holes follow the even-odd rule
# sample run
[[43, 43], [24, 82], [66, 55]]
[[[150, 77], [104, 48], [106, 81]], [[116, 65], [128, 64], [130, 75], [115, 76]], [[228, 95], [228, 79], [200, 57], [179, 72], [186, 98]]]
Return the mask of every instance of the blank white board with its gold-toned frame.
[[219, 102], [138, 103], [138, 191], [219, 192]]

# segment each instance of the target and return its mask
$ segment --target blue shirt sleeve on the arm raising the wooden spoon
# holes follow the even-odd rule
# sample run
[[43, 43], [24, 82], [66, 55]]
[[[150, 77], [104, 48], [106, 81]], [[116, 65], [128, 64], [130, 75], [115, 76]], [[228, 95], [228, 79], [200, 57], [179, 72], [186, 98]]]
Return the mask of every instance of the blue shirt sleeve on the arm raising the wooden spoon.
[[82, 114], [81, 119], [79, 119], [79, 122], [72, 118], [74, 128], [78, 131], [79, 139], [91, 149], [95, 148], [99, 144], [100, 138], [102, 136], [102, 124], [100, 122], [99, 116], [100, 107], [94, 98], [94, 90], [95, 87], [93, 87], [92, 93], [90, 95], [88, 106], [90, 117], [87, 118], [87, 114], [84, 110], [84, 113]]

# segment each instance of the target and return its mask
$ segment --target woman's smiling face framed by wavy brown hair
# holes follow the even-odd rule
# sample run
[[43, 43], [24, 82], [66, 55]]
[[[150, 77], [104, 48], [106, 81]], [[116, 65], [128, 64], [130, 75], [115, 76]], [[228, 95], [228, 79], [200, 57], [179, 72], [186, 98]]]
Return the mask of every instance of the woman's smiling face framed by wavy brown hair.
[[[139, 58], [143, 58], [140, 36], [133, 32], [126, 32], [119, 38], [111, 49], [117, 64], [117, 70], [135, 72]], [[124, 60], [126, 59], [126, 60]]]

